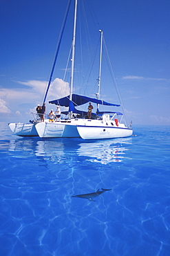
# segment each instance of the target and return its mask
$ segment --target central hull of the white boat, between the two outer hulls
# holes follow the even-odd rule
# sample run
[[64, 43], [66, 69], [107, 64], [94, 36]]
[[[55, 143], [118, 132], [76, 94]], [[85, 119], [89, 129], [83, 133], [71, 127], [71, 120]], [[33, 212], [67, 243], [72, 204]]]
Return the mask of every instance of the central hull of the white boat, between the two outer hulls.
[[80, 137], [76, 125], [63, 122], [39, 122], [36, 131], [40, 138], [77, 138]]

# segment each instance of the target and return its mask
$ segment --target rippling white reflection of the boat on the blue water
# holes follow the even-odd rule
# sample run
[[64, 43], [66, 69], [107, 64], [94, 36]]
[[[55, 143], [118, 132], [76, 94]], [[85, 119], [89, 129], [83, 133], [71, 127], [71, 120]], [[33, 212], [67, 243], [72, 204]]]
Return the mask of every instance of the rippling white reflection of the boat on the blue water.
[[[111, 140], [94, 140], [86, 142], [81, 139], [17, 139], [10, 141], [9, 150], [17, 152], [19, 157], [37, 156], [47, 161], [57, 163], [78, 163], [81, 160], [106, 165], [112, 162], [121, 162], [129, 158], [126, 151], [129, 150], [131, 138], [116, 138]], [[128, 156], [127, 156], [128, 155]], [[80, 159], [82, 157], [85, 159]]]

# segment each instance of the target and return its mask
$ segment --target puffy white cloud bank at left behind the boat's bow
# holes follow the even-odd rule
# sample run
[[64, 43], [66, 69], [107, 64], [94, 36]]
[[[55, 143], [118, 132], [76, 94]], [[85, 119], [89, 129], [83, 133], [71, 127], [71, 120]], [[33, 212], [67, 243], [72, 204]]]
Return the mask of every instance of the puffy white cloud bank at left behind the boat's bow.
[[[37, 104], [43, 103], [45, 90], [47, 87], [46, 81], [30, 80], [27, 82], [18, 82], [24, 84], [27, 88], [16, 89], [0, 89], [0, 114], [7, 115], [9, 122], [17, 118], [25, 118], [27, 122], [30, 118], [30, 113], [34, 113]], [[50, 90], [47, 95], [46, 102], [55, 100], [56, 98], [64, 97], [70, 93], [69, 84], [63, 80], [56, 78], [50, 85]], [[48, 111], [49, 106], [47, 106]], [[31, 115], [32, 117], [32, 115]]]

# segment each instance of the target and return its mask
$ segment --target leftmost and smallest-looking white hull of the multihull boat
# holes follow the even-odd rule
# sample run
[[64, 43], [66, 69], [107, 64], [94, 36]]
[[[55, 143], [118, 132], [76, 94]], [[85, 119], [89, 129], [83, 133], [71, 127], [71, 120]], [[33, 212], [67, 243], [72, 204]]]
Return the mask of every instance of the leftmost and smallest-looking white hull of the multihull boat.
[[32, 123], [10, 123], [8, 124], [12, 133], [21, 137], [36, 137], [39, 136]]

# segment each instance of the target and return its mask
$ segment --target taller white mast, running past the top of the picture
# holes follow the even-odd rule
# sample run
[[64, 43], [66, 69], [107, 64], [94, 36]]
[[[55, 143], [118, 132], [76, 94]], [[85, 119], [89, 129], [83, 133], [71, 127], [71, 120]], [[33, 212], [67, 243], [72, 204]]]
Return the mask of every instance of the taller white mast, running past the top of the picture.
[[[72, 68], [71, 68], [71, 77], [70, 77], [70, 103], [72, 102], [73, 81], [74, 81], [74, 58], [75, 58], [75, 42], [76, 42], [76, 15], [77, 15], [77, 0], [75, 0], [75, 6], [74, 6], [74, 28], [73, 28], [73, 39], [72, 39]], [[70, 118], [72, 118], [72, 111], [70, 113]]]

